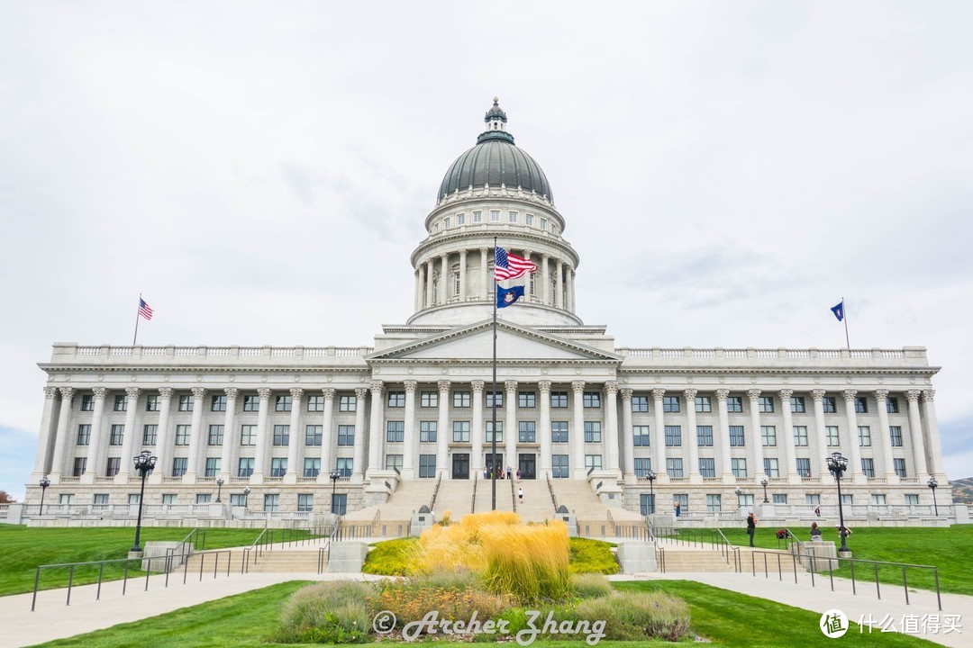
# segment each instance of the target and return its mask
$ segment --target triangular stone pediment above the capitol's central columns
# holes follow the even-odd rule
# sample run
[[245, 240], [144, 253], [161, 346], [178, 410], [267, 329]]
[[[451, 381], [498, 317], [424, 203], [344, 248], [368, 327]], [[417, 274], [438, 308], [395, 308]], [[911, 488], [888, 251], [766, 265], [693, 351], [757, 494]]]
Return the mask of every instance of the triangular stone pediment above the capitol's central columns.
[[[573, 340], [527, 326], [496, 324], [498, 362], [619, 363], [622, 358]], [[491, 362], [492, 321], [453, 328], [366, 357], [370, 362]]]

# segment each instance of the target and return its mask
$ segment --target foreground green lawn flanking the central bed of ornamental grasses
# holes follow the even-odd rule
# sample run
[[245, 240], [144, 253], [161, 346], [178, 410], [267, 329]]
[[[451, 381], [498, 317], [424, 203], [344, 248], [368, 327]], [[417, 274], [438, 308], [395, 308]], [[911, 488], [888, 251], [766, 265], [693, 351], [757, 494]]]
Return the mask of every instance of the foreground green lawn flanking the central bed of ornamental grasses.
[[[277, 630], [281, 606], [287, 597], [303, 585], [305, 583], [301, 582], [274, 585], [152, 619], [42, 645], [49, 648], [127, 648], [147, 645], [166, 648], [279, 646], [281, 644], [267, 643], [266, 639]], [[684, 598], [690, 604], [693, 631], [711, 641], [706, 645], [713, 648], [831, 645], [828, 643], [830, 639], [818, 630], [820, 615], [815, 612], [685, 581], [627, 582], [617, 583], [616, 586], [620, 590], [636, 592], [660, 589]], [[852, 625], [841, 642], [842, 645], [879, 647], [936, 645], [904, 634], [860, 634], [856, 625]], [[545, 640], [541, 645], [545, 648], [578, 648], [587, 644], [579, 639]], [[661, 641], [602, 641], [598, 645], [605, 648], [634, 648], [671, 644]]]

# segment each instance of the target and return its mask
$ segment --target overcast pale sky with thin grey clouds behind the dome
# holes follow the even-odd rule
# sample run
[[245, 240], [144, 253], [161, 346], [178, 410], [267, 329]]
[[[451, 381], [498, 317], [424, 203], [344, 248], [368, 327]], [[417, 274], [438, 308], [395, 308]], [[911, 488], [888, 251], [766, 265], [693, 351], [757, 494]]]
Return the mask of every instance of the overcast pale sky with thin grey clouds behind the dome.
[[[54, 342], [371, 345], [493, 95], [618, 346], [924, 346], [973, 462], [969, 2], [0, 4], [0, 489]], [[963, 378], [966, 376], [966, 378]]]

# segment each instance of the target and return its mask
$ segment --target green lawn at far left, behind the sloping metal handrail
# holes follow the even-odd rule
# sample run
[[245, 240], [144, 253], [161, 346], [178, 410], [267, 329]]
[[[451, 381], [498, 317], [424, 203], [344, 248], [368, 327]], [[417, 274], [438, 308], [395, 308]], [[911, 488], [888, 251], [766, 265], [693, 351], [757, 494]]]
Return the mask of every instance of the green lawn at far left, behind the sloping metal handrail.
[[[142, 528], [140, 542], [152, 540], [182, 540], [193, 529], [149, 527]], [[251, 544], [261, 529], [205, 529], [206, 549], [221, 549]], [[22, 526], [0, 525], [0, 596], [31, 592], [38, 565], [54, 563], [83, 563], [127, 558], [135, 539], [135, 529], [127, 527], [27, 529]], [[138, 563], [130, 563], [130, 567]], [[121, 578], [124, 567], [105, 568], [105, 580]], [[138, 571], [130, 570], [129, 575]], [[144, 572], [141, 572], [144, 574]], [[45, 569], [41, 589], [67, 585], [67, 569]], [[97, 569], [77, 570], [75, 584], [96, 582]]]

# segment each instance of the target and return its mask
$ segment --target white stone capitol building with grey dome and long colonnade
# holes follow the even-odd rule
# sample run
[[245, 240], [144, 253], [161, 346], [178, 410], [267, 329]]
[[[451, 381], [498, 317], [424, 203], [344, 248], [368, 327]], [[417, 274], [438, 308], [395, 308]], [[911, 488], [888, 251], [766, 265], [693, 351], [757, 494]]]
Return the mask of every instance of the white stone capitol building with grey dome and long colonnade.
[[[496, 101], [485, 123], [425, 217], [414, 312], [373, 346], [55, 344], [26, 503], [47, 478], [53, 512], [126, 507], [132, 458], [149, 451], [146, 504], [219, 500], [228, 518], [351, 513], [510, 466], [544, 493], [583, 485], [608, 511], [741, 520], [837, 506], [826, 458], [840, 452], [849, 519], [931, 515], [934, 495], [951, 508], [924, 348], [616, 341], [577, 315], [584, 250], [552, 183]], [[496, 247], [536, 270], [500, 284], [523, 297], [494, 326]]]

